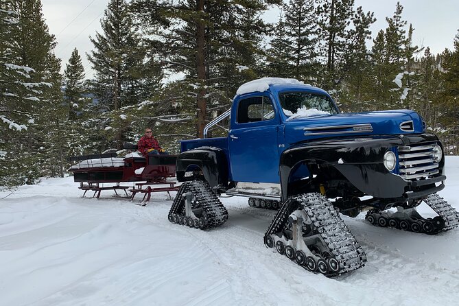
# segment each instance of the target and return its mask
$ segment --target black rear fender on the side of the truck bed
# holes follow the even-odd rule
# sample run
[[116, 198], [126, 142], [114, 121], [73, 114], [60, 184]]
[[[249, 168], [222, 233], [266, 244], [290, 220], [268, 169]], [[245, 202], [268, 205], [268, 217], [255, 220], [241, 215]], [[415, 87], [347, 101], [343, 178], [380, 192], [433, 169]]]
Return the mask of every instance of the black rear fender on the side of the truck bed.
[[223, 150], [218, 148], [197, 148], [180, 153], [177, 157], [177, 180], [185, 182], [185, 172], [201, 171], [211, 188], [228, 187], [228, 161]]

